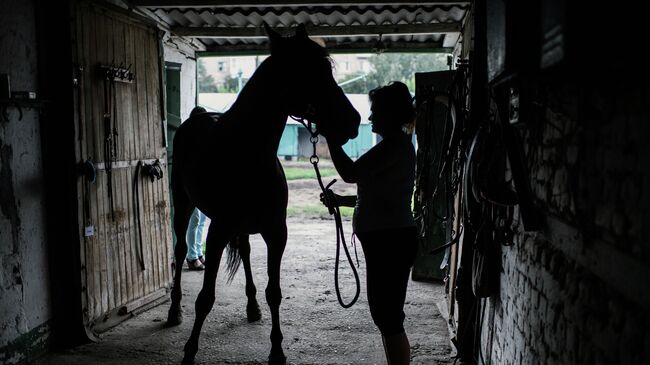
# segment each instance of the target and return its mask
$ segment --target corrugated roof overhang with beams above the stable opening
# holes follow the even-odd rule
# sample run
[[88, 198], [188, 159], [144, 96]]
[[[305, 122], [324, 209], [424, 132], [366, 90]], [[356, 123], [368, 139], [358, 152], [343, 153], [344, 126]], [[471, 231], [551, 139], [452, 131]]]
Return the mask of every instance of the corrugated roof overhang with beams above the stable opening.
[[470, 8], [469, 2], [133, 3], [172, 33], [198, 39], [208, 52], [266, 50], [263, 22], [285, 33], [305, 24], [311, 35], [321, 37], [333, 51], [449, 50], [456, 44]]

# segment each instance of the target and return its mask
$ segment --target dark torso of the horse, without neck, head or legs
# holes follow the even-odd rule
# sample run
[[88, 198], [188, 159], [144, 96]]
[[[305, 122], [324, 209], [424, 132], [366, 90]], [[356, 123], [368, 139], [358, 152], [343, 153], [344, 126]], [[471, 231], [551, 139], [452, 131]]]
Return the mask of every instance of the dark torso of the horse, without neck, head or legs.
[[[190, 118], [174, 137], [172, 189], [217, 221], [285, 216], [287, 183], [275, 153], [228, 120]], [[239, 218], [242, 217], [242, 218]], [[254, 229], [246, 229], [251, 231]]]

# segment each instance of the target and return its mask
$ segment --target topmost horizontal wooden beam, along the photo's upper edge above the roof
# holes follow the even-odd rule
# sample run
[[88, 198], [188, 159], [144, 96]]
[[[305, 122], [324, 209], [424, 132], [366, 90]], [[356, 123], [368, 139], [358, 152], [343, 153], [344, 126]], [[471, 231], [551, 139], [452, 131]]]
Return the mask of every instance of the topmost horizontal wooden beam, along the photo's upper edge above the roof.
[[468, 6], [470, 1], [383, 1], [383, 0], [328, 0], [325, 2], [307, 0], [131, 0], [132, 6], [150, 8], [217, 8], [217, 7], [244, 7], [244, 6], [331, 6], [331, 5], [439, 5], [439, 6]]

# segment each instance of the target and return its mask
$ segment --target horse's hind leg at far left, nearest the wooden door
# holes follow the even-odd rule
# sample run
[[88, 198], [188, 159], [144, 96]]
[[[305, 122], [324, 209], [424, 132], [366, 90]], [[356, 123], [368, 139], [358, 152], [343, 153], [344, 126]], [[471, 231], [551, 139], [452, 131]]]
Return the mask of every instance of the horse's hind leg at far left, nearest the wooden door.
[[181, 299], [183, 291], [181, 290], [181, 276], [183, 272], [183, 262], [187, 256], [187, 240], [185, 238], [187, 225], [194, 207], [190, 204], [187, 195], [182, 189], [173, 189], [174, 196], [174, 233], [176, 234], [176, 247], [174, 247], [174, 282], [172, 284], [171, 299], [167, 313], [167, 324], [175, 326], [183, 322], [183, 309]]

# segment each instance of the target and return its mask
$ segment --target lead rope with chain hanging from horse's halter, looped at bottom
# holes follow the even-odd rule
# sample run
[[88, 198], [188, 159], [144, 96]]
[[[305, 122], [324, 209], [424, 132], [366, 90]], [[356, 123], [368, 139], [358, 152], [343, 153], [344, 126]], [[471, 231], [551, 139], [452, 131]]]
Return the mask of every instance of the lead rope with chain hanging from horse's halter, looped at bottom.
[[[348, 246], [345, 243], [345, 233], [343, 232], [343, 221], [341, 220], [341, 210], [339, 209], [338, 206], [333, 207], [332, 204], [330, 204], [331, 203], [330, 194], [333, 194], [332, 190], [330, 190], [330, 186], [332, 186], [336, 182], [336, 179], [332, 180], [329, 184], [327, 184], [327, 186], [323, 184], [323, 178], [320, 174], [320, 170], [318, 169], [319, 158], [318, 155], [316, 154], [316, 144], [318, 143], [318, 131], [314, 131], [312, 129], [310, 121], [305, 122], [303, 118], [294, 117], [294, 116], [290, 116], [290, 117], [291, 119], [302, 124], [307, 129], [307, 131], [309, 131], [309, 134], [311, 135], [309, 141], [311, 142], [314, 148], [314, 153], [309, 158], [309, 162], [314, 166], [314, 171], [316, 171], [316, 179], [318, 180], [318, 185], [323, 191], [323, 196], [325, 197], [327, 209], [329, 210], [330, 215], [334, 215], [334, 221], [336, 222], [336, 260], [334, 261], [334, 288], [336, 289], [336, 298], [338, 299], [341, 307], [350, 308], [354, 305], [354, 303], [357, 302], [357, 299], [359, 299], [359, 293], [361, 292], [361, 285], [359, 282], [359, 274], [357, 273], [357, 269], [354, 267], [354, 262], [352, 262], [352, 256], [350, 255]], [[343, 298], [341, 297], [341, 290], [339, 287], [339, 262], [341, 257], [341, 245], [343, 245], [345, 256], [347, 257], [348, 263], [352, 268], [352, 273], [354, 274], [354, 280], [356, 282], [356, 292], [354, 294], [354, 298], [352, 298], [352, 300], [347, 304], [343, 302]], [[356, 254], [356, 247], [355, 247], [355, 254]], [[359, 259], [357, 257], [357, 264], [358, 262]]]

